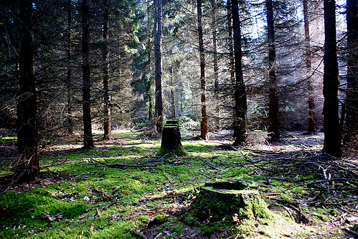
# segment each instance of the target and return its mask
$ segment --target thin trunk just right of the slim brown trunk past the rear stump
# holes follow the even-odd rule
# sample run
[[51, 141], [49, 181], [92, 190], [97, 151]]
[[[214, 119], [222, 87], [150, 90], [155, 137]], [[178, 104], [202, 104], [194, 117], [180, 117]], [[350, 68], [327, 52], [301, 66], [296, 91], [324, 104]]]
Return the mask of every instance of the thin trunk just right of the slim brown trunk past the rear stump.
[[220, 97], [219, 97], [219, 65], [218, 65], [218, 37], [216, 26], [216, 3], [211, 0], [211, 30], [213, 37], [213, 66], [214, 66], [214, 91], [215, 91], [215, 128], [220, 129]]

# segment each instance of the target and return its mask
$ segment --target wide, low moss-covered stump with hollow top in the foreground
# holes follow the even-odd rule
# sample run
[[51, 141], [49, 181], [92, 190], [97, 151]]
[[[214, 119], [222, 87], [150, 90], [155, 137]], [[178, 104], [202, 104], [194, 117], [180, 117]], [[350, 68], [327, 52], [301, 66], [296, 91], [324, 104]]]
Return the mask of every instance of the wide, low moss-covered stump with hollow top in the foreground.
[[188, 218], [200, 222], [230, 219], [235, 214], [240, 219], [270, 218], [266, 202], [255, 187], [254, 183], [246, 180], [206, 183], [191, 203]]

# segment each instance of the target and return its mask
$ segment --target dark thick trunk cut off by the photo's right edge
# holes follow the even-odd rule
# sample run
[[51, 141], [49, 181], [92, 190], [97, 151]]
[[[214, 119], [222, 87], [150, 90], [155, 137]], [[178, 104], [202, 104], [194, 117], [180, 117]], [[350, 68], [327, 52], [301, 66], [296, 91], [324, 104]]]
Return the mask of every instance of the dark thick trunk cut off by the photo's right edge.
[[[358, 132], [358, 10], [357, 0], [347, 0], [347, 93], [344, 143], [353, 143]], [[356, 146], [356, 145], [355, 145]]]

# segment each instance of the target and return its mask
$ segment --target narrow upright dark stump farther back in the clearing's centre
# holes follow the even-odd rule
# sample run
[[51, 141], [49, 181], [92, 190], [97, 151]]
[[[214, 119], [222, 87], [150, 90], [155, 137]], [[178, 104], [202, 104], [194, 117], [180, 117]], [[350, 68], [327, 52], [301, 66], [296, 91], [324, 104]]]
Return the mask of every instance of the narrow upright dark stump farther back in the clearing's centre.
[[162, 145], [158, 152], [158, 156], [185, 156], [188, 153], [182, 147], [179, 122], [167, 121], [163, 126]]

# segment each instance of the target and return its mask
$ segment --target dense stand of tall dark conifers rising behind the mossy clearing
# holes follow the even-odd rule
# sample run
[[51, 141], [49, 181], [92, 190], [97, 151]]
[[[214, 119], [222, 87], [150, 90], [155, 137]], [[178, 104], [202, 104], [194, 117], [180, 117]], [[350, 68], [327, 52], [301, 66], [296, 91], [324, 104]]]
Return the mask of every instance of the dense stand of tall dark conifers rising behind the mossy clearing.
[[341, 157], [342, 142], [357, 147], [358, 15], [347, 0], [337, 21], [336, 5], [3, 1], [0, 127], [17, 132], [14, 179], [36, 178], [38, 144], [54, 134], [80, 131], [90, 148], [93, 128], [103, 140], [114, 127], [160, 134], [177, 117], [200, 122], [204, 140], [231, 132], [234, 146], [255, 129], [273, 141], [285, 130], [323, 130], [323, 152]]

